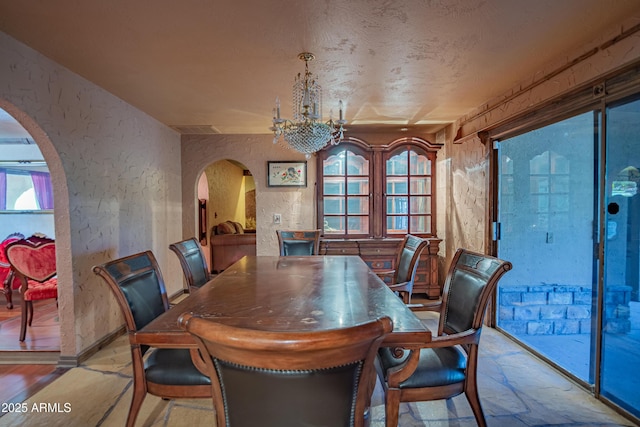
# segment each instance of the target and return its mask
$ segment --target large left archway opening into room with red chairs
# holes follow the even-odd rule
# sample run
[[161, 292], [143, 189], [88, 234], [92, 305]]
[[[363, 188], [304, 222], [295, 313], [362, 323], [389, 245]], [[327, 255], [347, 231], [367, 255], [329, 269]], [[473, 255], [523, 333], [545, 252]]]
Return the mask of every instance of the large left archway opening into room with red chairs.
[[[19, 121], [18, 117], [24, 120]], [[12, 106], [0, 103], [0, 146], [0, 240], [14, 234], [25, 237], [40, 234], [58, 240], [56, 214], [65, 204], [57, 195], [66, 192], [66, 185], [59, 184], [65, 182], [64, 173], [51, 142], [32, 120]], [[56, 246], [60, 248], [59, 244]], [[58, 260], [70, 258], [60, 255], [57, 249]], [[65, 270], [64, 261], [58, 270], [60, 267]], [[58, 305], [54, 300], [36, 301], [33, 324], [27, 328], [25, 341], [20, 342], [21, 295], [14, 283], [7, 286], [11, 288], [13, 308], [7, 308], [3, 315], [7, 323], [0, 328], [0, 351], [12, 352], [16, 362], [58, 363], [62, 319], [73, 328], [73, 315], [65, 317], [60, 314], [62, 310], [58, 310], [63, 301], [67, 302], [65, 292], [59, 288]], [[5, 307], [9, 306], [7, 301]], [[38, 357], [25, 352], [37, 352]], [[11, 361], [7, 357], [3, 360]]]

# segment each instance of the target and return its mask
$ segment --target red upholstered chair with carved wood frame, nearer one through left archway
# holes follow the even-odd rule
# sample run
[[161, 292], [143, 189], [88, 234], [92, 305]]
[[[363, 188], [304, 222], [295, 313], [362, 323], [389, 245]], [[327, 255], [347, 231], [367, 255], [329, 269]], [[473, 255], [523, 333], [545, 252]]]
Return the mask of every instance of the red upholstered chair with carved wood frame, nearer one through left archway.
[[33, 320], [33, 301], [58, 298], [56, 243], [46, 237], [31, 236], [7, 245], [6, 256], [13, 273], [20, 280], [20, 341], [24, 341], [27, 325], [31, 326]]

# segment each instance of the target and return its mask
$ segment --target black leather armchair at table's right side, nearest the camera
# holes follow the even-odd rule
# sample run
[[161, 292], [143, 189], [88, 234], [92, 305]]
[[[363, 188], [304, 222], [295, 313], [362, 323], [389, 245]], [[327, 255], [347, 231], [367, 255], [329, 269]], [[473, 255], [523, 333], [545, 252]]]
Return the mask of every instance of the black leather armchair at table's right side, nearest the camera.
[[414, 309], [440, 313], [437, 336], [402, 352], [382, 348], [378, 375], [385, 392], [387, 427], [396, 427], [400, 402], [467, 398], [476, 422], [486, 426], [477, 386], [478, 347], [489, 297], [511, 263], [458, 249], [441, 302]]

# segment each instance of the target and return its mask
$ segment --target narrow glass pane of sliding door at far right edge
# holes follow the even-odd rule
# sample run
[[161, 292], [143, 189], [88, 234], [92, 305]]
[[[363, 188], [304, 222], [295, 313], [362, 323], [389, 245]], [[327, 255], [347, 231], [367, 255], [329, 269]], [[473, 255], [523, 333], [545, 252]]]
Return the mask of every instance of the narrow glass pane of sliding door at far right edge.
[[640, 100], [607, 108], [600, 393], [640, 416]]

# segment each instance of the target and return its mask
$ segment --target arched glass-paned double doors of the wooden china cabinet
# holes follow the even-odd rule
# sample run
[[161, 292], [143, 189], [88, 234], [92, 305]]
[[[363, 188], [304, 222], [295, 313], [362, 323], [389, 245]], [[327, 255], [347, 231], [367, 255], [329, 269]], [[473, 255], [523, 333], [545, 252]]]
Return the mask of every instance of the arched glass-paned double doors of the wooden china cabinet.
[[438, 149], [417, 138], [384, 146], [350, 138], [318, 153], [318, 218], [324, 236], [435, 236]]

